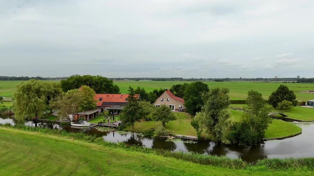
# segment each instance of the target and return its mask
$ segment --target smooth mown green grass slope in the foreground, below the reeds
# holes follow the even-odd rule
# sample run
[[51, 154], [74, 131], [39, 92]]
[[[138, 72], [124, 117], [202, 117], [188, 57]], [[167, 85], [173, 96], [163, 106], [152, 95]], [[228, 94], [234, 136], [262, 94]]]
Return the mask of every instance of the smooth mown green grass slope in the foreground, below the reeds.
[[[153, 154], [104, 147], [37, 132], [0, 127], [0, 175], [311, 175], [206, 166]], [[254, 167], [253, 167], [254, 168]], [[252, 170], [259, 170], [258, 167]]]

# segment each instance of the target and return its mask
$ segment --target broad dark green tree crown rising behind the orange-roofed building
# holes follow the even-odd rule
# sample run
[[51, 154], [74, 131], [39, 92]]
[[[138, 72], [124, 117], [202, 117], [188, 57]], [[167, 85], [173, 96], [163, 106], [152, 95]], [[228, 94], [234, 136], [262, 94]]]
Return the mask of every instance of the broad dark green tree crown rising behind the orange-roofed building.
[[99, 75], [72, 75], [66, 80], [61, 80], [60, 83], [64, 92], [78, 89], [82, 85], [89, 86], [97, 94], [118, 94], [120, 91], [119, 86], [114, 85], [112, 80]]

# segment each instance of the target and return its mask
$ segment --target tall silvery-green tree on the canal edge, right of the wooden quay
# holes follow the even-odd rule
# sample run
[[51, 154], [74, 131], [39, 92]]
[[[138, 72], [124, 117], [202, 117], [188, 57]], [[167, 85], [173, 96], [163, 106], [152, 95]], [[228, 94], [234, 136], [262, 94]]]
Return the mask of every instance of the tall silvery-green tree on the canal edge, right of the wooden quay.
[[229, 89], [213, 88], [203, 93], [203, 101], [202, 111], [196, 113], [194, 121], [205, 133], [213, 135], [215, 140], [228, 143], [226, 133], [234, 122], [229, 111]]

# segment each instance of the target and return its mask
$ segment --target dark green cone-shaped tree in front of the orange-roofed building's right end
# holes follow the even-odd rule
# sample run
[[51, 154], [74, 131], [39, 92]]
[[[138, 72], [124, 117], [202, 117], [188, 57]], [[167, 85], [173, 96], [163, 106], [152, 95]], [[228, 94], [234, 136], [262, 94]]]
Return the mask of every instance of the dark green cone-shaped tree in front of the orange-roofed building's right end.
[[122, 122], [132, 125], [132, 129], [134, 129], [134, 123], [140, 121], [143, 117], [142, 106], [139, 104], [138, 97], [134, 95], [134, 90], [130, 87], [129, 96], [127, 97], [128, 103], [124, 106], [120, 115]]

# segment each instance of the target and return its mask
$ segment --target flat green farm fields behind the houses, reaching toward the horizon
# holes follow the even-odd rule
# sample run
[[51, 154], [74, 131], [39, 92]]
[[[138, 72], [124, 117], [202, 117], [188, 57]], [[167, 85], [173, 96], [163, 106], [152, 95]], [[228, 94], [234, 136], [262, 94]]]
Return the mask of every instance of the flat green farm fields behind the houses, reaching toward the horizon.
[[[51, 80], [51, 82], [59, 82], [58, 80]], [[121, 93], [128, 93], [128, 87], [137, 86], [143, 87], [146, 91], [153, 91], [154, 89], [168, 88], [170, 89], [174, 84], [191, 83], [191, 81], [114, 81], [114, 84], [120, 87]], [[0, 96], [12, 97], [13, 92], [16, 90], [16, 85], [21, 81], [0, 81]], [[246, 98], [247, 91], [255, 90], [262, 93], [263, 98], [267, 99], [268, 96], [275, 91], [280, 84], [287, 85], [290, 90], [295, 92], [298, 101], [313, 100], [314, 94], [300, 93], [301, 91], [314, 90], [314, 84], [303, 83], [282, 83], [282, 82], [251, 82], [251, 81], [225, 81], [214, 82], [206, 81], [209, 88], [211, 87], [227, 87], [230, 89], [231, 100], [241, 100]]]

